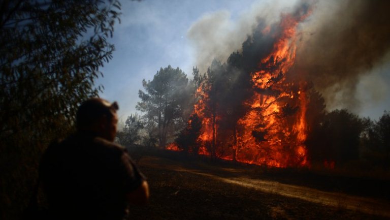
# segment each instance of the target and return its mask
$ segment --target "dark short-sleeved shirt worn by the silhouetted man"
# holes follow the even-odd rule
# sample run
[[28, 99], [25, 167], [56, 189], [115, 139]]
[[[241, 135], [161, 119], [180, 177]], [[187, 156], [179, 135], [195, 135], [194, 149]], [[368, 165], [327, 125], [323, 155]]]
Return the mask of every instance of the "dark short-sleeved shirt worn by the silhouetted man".
[[56, 219], [122, 219], [125, 195], [145, 179], [122, 146], [93, 134], [49, 146], [40, 178]]

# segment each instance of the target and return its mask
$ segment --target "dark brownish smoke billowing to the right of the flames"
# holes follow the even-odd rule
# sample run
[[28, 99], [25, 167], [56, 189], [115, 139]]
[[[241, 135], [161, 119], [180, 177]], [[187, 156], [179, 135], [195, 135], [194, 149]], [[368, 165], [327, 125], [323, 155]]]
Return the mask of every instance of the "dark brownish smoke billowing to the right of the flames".
[[[328, 108], [359, 111], [357, 86], [390, 49], [389, 12], [386, 0], [319, 1], [302, 24], [295, 70], [314, 83]], [[385, 96], [375, 85], [365, 87], [373, 98]]]

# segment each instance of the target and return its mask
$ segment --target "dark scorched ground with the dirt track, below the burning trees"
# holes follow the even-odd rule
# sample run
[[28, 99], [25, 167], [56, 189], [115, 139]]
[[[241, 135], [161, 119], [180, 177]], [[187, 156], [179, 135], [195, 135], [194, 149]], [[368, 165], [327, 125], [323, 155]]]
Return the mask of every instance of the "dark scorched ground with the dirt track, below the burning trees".
[[388, 180], [265, 169], [177, 152], [135, 158], [151, 196], [146, 207], [131, 207], [129, 219], [390, 219]]

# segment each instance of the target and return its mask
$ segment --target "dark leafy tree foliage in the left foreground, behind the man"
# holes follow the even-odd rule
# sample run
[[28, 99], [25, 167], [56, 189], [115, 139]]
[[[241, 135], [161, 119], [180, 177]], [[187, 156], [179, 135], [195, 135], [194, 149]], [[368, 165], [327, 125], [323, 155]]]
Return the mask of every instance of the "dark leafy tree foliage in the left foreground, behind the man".
[[[34, 185], [39, 158], [71, 131], [80, 102], [112, 58], [117, 0], [2, 1], [0, 182], [3, 219], [15, 218]], [[16, 193], [15, 193], [16, 192]], [[7, 212], [6, 212], [7, 210]]]

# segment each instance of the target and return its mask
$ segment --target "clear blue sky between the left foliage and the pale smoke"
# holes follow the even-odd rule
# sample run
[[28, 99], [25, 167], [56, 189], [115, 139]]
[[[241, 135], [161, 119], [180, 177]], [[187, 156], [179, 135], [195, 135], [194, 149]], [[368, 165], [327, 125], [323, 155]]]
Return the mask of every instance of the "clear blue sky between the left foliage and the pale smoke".
[[[104, 78], [96, 84], [105, 87], [100, 95], [118, 101], [119, 115], [135, 113], [142, 79], [151, 80], [161, 67], [179, 67], [188, 76], [196, 66], [187, 32], [207, 13], [227, 10], [237, 19], [256, 2], [244, 1], [121, 1], [121, 23], [110, 39], [116, 50], [102, 69]], [[258, 1], [257, 1], [258, 2]]]

